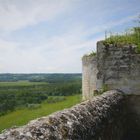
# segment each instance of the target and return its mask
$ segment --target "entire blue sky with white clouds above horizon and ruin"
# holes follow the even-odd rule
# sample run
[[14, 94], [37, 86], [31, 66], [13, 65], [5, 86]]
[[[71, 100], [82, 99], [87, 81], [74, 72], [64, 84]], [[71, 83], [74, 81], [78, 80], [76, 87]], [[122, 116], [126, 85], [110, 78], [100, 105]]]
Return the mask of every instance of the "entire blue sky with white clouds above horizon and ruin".
[[139, 14], [140, 0], [0, 0], [0, 73], [80, 73], [105, 31]]

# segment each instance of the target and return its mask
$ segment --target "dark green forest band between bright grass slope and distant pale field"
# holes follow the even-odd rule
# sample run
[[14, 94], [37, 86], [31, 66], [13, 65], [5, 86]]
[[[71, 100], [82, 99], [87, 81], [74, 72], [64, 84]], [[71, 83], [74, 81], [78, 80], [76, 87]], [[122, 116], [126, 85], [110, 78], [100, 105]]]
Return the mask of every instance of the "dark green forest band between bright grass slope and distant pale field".
[[49, 96], [69, 96], [80, 92], [81, 79], [65, 83], [0, 86], [0, 115], [30, 104], [40, 104], [50, 99]]

